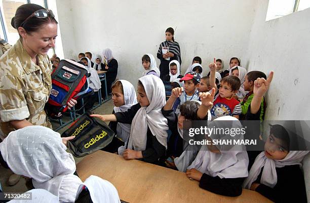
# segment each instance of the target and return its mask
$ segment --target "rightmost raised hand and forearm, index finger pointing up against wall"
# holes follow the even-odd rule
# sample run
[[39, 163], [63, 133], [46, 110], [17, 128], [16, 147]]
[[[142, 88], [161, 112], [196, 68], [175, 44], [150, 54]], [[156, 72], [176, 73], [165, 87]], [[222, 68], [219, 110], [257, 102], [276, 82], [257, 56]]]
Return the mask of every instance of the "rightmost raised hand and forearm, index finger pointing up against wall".
[[274, 72], [271, 71], [267, 80], [264, 78], [257, 78], [254, 81], [254, 97], [251, 101], [251, 114], [256, 114], [260, 108], [261, 99], [265, 95], [266, 91], [268, 90], [270, 83], [272, 82], [274, 77]]

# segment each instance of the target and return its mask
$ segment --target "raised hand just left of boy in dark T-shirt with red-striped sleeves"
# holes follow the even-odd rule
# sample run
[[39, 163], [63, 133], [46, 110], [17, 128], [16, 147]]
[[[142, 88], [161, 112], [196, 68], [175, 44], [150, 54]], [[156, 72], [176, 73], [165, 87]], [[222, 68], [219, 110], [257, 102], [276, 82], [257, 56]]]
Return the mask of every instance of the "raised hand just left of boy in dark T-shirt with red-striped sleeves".
[[212, 90], [211, 94], [209, 92], [199, 93], [201, 105], [198, 108], [197, 116], [200, 119], [204, 119], [208, 115], [208, 110], [212, 107], [214, 94], [215, 94], [215, 88], [212, 88], [211, 90]]

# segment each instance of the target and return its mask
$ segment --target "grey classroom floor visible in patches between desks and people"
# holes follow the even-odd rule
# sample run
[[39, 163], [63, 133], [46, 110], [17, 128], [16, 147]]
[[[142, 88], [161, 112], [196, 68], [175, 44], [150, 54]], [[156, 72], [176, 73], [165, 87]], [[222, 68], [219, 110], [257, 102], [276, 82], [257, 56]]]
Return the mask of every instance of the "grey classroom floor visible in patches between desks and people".
[[[110, 114], [113, 111], [113, 107], [114, 107], [113, 102], [110, 99], [110, 100], [106, 101], [106, 103], [102, 104], [100, 107], [96, 108], [93, 111], [93, 113]], [[55, 123], [52, 123], [52, 124], [53, 124], [54, 128], [57, 126], [57, 124], [55, 124]], [[59, 129], [58, 132], [62, 133], [64, 130], [66, 130], [69, 127], [69, 125], [70, 124]], [[81, 158], [74, 157], [75, 163], [78, 163], [82, 159], [83, 159], [83, 157], [81, 157]], [[0, 183], [1, 183], [3, 191], [6, 191], [6, 192], [25, 192], [25, 191], [27, 191], [24, 178], [21, 178], [20, 181], [15, 186], [8, 186], [7, 181], [8, 181], [11, 174], [12, 174], [11, 170], [8, 170], [8, 169], [6, 169], [0, 165]]]

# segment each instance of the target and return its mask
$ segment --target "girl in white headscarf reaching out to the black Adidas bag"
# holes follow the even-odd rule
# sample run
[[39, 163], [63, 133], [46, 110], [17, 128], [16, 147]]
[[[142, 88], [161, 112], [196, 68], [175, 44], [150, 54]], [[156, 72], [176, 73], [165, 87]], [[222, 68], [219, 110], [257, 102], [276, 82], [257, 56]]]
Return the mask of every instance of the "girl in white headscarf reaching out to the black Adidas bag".
[[167, 119], [161, 109], [166, 104], [165, 86], [154, 75], [147, 75], [138, 82], [138, 104], [126, 112], [111, 115], [92, 115], [103, 121], [117, 121], [131, 124], [125, 159], [141, 159], [158, 163], [167, 149]]

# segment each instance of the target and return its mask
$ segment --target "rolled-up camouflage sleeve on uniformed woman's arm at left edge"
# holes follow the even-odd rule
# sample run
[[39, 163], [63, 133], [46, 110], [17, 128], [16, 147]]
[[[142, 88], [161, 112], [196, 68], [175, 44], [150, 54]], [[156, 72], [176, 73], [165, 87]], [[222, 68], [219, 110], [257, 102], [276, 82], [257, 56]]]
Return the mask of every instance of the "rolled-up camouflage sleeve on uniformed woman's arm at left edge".
[[30, 116], [23, 90], [24, 81], [16, 76], [0, 77], [1, 122], [23, 120]]

